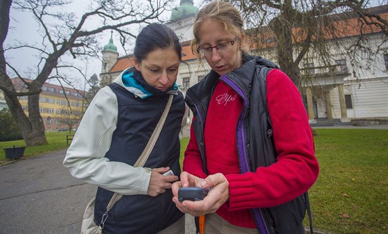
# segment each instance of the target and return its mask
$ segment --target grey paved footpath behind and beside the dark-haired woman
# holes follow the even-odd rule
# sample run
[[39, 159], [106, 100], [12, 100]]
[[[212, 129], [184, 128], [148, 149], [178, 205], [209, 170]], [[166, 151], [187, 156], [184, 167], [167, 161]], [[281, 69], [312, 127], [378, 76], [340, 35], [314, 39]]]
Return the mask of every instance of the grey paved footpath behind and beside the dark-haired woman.
[[[1, 234], [76, 234], [96, 186], [73, 178], [62, 165], [66, 150], [0, 167]], [[186, 215], [186, 234], [195, 234]]]

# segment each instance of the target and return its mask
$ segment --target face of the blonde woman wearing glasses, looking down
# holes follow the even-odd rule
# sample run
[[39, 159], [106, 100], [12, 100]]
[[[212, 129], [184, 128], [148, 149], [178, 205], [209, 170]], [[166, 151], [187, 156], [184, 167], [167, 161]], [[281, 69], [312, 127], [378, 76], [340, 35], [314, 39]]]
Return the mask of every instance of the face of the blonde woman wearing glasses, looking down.
[[[222, 23], [215, 22], [213, 19], [205, 19], [198, 28], [198, 37], [200, 48], [206, 49], [208, 52], [207, 55], [204, 54], [206, 62], [220, 76], [242, 65], [242, 56], [239, 51], [240, 38], [226, 33]], [[220, 47], [217, 47], [224, 43], [228, 47], [226, 51], [222, 51], [222, 49], [219, 49]]]

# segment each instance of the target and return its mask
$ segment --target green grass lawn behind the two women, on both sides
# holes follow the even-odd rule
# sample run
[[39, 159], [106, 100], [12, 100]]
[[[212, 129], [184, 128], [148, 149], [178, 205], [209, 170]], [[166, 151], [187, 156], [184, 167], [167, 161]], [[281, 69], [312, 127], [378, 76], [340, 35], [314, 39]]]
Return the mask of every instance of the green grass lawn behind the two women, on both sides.
[[[25, 156], [66, 149], [67, 132], [46, 133], [48, 145], [27, 147]], [[182, 139], [181, 165], [188, 138]], [[3, 148], [24, 141], [0, 142]], [[321, 171], [310, 189], [317, 230], [335, 234], [388, 233], [388, 130], [317, 128]], [[305, 219], [308, 226], [308, 218]]]

